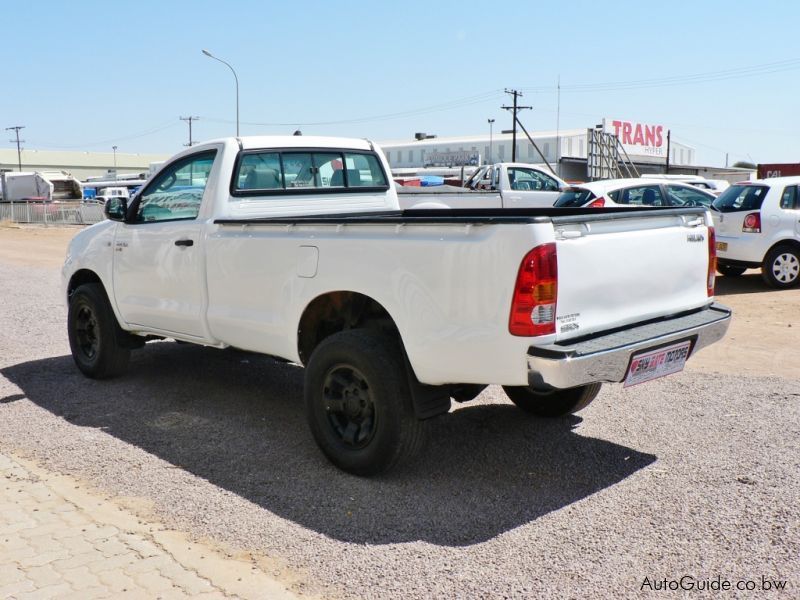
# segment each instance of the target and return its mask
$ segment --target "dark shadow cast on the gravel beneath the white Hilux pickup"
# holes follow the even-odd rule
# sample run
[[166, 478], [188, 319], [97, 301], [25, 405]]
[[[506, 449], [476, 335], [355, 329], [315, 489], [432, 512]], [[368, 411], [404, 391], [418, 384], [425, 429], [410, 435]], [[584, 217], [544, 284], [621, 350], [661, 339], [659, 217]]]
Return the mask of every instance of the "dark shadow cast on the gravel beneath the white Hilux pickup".
[[[91, 381], [69, 356], [3, 375], [48, 411], [101, 428], [213, 484], [338, 540], [486, 541], [625, 479], [655, 460], [507, 404], [466, 405], [429, 422], [412, 463], [375, 479], [332, 467], [302, 406], [303, 372], [264, 357], [162, 342], [129, 373]], [[8, 398], [6, 400], [12, 400]]]

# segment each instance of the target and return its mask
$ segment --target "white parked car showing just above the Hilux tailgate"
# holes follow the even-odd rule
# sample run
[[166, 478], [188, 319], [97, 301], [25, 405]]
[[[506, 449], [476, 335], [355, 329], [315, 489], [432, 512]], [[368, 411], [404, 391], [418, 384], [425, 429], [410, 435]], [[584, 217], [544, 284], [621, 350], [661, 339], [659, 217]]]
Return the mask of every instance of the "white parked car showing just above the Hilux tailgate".
[[559, 194], [554, 206], [558, 208], [590, 208], [624, 206], [709, 208], [714, 196], [694, 186], [648, 179], [606, 179], [573, 185]]

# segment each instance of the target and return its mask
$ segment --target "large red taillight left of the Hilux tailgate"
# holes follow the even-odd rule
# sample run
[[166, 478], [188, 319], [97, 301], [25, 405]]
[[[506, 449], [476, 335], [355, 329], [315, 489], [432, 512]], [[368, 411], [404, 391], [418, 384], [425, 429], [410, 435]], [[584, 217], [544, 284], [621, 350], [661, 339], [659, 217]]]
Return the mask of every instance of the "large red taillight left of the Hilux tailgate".
[[556, 332], [558, 260], [555, 244], [536, 246], [517, 273], [508, 331], [524, 337]]

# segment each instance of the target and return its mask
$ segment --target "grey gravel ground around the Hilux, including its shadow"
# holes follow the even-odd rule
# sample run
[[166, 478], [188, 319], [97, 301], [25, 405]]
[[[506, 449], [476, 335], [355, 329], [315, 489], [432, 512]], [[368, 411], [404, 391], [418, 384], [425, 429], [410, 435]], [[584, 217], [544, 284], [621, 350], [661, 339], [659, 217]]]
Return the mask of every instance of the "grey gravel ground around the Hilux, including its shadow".
[[606, 386], [556, 422], [490, 388], [430, 422], [413, 464], [364, 480], [314, 446], [299, 368], [159, 342], [90, 381], [57, 272], [0, 263], [0, 281], [0, 448], [277, 559], [302, 591], [619, 598], [645, 577], [763, 575], [798, 595], [798, 379]]

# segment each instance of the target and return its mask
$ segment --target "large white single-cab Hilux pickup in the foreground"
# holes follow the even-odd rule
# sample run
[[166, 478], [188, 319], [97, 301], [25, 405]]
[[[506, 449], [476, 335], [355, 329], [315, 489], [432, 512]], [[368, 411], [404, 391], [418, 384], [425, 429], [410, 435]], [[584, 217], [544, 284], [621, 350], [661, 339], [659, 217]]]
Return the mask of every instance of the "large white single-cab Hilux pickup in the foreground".
[[703, 209], [404, 212], [388, 174], [363, 140], [178, 154], [69, 245], [77, 367], [120, 375], [154, 338], [302, 364], [318, 445], [369, 475], [487, 384], [562, 416], [603, 382], [680, 370], [728, 327]]

